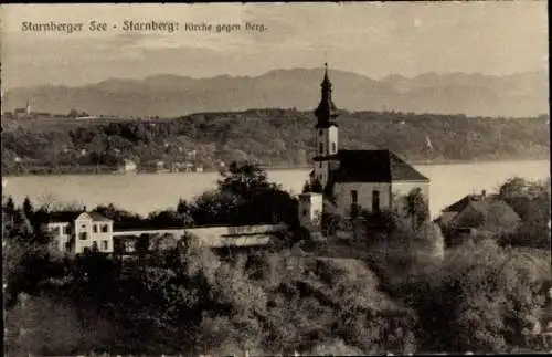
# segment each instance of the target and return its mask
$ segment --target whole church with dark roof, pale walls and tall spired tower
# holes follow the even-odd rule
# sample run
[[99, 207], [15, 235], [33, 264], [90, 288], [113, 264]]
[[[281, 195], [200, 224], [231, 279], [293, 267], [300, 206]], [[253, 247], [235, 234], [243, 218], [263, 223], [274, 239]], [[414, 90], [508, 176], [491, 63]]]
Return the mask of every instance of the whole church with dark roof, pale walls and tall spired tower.
[[404, 197], [420, 189], [429, 200], [429, 179], [389, 149], [339, 148], [338, 109], [326, 64], [320, 104], [315, 111], [316, 153], [309, 192], [299, 195], [299, 221], [319, 225], [323, 212], [353, 217], [361, 210], [404, 210]]

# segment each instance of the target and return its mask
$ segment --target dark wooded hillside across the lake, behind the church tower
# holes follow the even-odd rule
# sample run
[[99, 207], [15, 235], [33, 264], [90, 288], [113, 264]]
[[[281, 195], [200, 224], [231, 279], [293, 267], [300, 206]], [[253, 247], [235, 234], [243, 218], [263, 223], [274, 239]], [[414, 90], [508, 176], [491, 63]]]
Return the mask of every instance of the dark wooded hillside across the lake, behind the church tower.
[[[29, 171], [29, 161], [50, 168], [114, 167], [123, 158], [183, 161], [191, 150], [206, 168], [221, 160], [243, 159], [272, 167], [306, 166], [315, 148], [312, 113], [293, 109], [201, 113], [157, 120], [19, 123], [25, 125], [2, 123], [4, 175]], [[549, 116], [498, 119], [343, 112], [338, 123], [340, 147], [389, 148], [411, 161], [550, 157]], [[426, 146], [426, 136], [433, 148]]]

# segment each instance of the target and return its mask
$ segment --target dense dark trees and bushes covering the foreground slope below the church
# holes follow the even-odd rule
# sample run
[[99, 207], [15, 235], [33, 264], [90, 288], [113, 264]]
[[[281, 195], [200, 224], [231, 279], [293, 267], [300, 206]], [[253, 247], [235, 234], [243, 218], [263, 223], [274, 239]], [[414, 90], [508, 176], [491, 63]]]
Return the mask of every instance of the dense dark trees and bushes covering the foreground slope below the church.
[[[235, 206], [219, 210], [250, 214], [261, 195], [254, 192], [277, 191], [255, 166], [231, 170], [217, 192], [233, 197]], [[501, 193], [516, 192], [509, 188], [519, 182], [508, 181]], [[402, 213], [362, 212], [355, 222], [335, 218], [346, 235], [311, 244], [310, 253], [298, 235], [291, 245], [232, 258], [184, 238], [157, 240], [151, 250], [125, 260], [53, 253], [43, 209], [7, 199], [7, 350], [191, 356], [542, 350], [535, 332], [551, 303], [545, 298], [552, 286], [550, 250], [521, 239], [513, 246], [497, 237], [444, 249], [438, 228], [424, 217], [420, 192], [406, 199], [412, 204]], [[176, 212], [193, 216], [195, 204], [203, 203], [180, 202]], [[537, 207], [529, 204], [528, 216]], [[132, 217], [113, 206], [99, 209], [114, 219]]]

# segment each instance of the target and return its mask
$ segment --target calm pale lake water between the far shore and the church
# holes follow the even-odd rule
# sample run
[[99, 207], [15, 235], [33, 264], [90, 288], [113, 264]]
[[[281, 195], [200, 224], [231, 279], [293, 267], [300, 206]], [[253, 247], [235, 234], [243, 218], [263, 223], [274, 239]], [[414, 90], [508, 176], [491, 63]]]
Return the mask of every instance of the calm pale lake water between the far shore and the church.
[[[510, 177], [534, 180], [550, 176], [549, 160], [415, 167], [432, 180], [429, 208], [433, 217], [465, 195], [497, 190]], [[299, 193], [308, 174], [308, 169], [268, 170], [268, 179], [293, 193]], [[88, 208], [114, 203], [147, 214], [153, 210], [176, 208], [179, 198], [192, 199], [214, 188], [219, 178], [217, 172], [7, 177], [2, 195], [12, 196], [17, 204], [29, 196], [35, 206], [52, 199]]]

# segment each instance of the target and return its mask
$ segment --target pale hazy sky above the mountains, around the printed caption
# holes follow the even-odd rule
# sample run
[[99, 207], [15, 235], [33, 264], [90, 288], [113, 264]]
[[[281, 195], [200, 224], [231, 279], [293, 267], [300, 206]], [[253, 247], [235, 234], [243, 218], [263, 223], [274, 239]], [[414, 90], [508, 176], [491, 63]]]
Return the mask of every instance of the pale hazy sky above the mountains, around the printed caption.
[[[305, 4], [78, 4], [1, 8], [2, 86], [82, 85], [168, 73], [259, 75], [331, 67], [373, 78], [399, 73], [508, 74], [548, 69], [545, 1]], [[87, 31], [105, 21], [105, 33]], [[179, 31], [126, 33], [125, 20], [176, 21]], [[83, 22], [73, 34], [21, 23]], [[263, 33], [185, 32], [185, 22], [245, 23]]]

